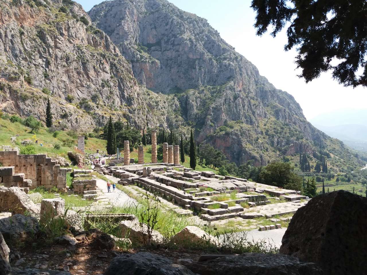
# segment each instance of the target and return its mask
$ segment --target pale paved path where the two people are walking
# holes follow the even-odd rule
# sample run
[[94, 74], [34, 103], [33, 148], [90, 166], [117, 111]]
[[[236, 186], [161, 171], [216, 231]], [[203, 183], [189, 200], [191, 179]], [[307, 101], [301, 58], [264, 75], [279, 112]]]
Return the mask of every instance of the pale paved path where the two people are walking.
[[[110, 181], [115, 181], [114, 177], [110, 177], [107, 176], [108, 179], [110, 179]], [[112, 179], [114, 178], [114, 179]], [[103, 193], [104, 196], [106, 196], [110, 202], [111, 205], [113, 206], [134, 206], [134, 205], [138, 205], [138, 202], [129, 197], [126, 193], [124, 193], [123, 191], [121, 191], [119, 188], [115, 188], [115, 192], [112, 192], [112, 185], [111, 185], [111, 192], [108, 193], [107, 192], [107, 183], [104, 180], [101, 179], [97, 179], [97, 186], [99, 189], [101, 189], [101, 192]]]

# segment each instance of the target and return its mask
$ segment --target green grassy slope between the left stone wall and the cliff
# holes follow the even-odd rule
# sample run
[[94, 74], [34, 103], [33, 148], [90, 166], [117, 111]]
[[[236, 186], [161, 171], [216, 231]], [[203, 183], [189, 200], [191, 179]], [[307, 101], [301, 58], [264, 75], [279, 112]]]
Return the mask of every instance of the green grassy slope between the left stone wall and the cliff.
[[[30, 129], [19, 122], [10, 122], [0, 118], [0, 145], [12, 145], [20, 147], [20, 142], [25, 139], [37, 139], [38, 144], [42, 143], [43, 147], [36, 145], [37, 154], [47, 154], [49, 156], [60, 155], [61, 157], [67, 157], [68, 151], [75, 151], [74, 147], [61, 146], [59, 150], [54, 148], [55, 144], [62, 144], [63, 140], [71, 139], [73, 144], [77, 146], [77, 139], [69, 136], [66, 131], [58, 131], [57, 137], [53, 137], [51, 132], [47, 131], [47, 128], [42, 127], [37, 133], [30, 133]], [[17, 137], [16, 144], [10, 140], [11, 136], [19, 135]], [[106, 150], [106, 140], [91, 138], [86, 140], [85, 151], [86, 153], [95, 153], [96, 150]]]

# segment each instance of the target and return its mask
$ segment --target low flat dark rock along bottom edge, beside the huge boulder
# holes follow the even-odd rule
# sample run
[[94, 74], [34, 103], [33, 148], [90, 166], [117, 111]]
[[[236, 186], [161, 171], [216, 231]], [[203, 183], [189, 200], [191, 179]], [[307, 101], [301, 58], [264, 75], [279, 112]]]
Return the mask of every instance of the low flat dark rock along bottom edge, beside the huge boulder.
[[322, 275], [313, 263], [302, 263], [283, 254], [244, 253], [186, 265], [200, 275]]

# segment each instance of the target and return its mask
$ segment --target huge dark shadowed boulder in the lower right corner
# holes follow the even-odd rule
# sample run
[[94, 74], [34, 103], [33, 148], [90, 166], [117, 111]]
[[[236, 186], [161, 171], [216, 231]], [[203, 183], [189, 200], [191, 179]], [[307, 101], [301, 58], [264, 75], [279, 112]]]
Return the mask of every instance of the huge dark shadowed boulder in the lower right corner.
[[320, 265], [325, 274], [365, 274], [367, 199], [347, 191], [319, 195], [299, 208], [280, 253]]

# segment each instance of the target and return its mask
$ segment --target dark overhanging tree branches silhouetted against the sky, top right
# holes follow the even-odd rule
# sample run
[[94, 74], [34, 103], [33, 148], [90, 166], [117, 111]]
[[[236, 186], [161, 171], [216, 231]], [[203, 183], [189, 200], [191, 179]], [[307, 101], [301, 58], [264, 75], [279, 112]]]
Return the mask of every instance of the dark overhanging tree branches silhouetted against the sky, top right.
[[[367, 1], [366, 0], [252, 0], [257, 13], [257, 35], [273, 26], [275, 37], [290, 22], [286, 51], [297, 48], [299, 77], [309, 81], [322, 72], [345, 86], [367, 86]], [[331, 63], [338, 59], [338, 63]], [[361, 76], [357, 70], [363, 69]]]

